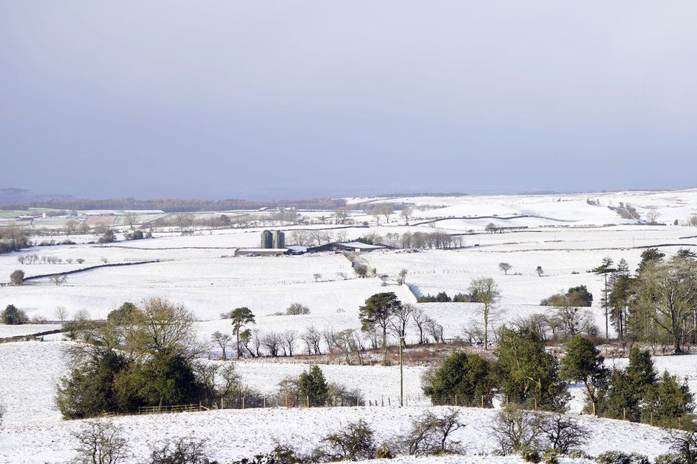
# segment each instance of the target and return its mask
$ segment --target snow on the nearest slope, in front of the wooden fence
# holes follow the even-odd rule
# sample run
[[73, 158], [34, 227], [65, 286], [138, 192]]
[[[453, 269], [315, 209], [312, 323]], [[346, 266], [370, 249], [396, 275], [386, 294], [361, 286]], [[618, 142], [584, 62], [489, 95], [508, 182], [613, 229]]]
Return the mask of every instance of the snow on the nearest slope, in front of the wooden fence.
[[[433, 408], [436, 413], [443, 409]], [[459, 409], [466, 426], [456, 431], [453, 438], [466, 446], [469, 455], [491, 453], [496, 448], [496, 443], [489, 428], [496, 411]], [[411, 421], [425, 410], [421, 407], [268, 408], [119, 417], [114, 419], [114, 423], [124, 430], [129, 448], [141, 456], [147, 453], [155, 441], [193, 435], [197, 439], [208, 440], [207, 449], [212, 459], [227, 462], [269, 452], [275, 445], [274, 440], [309, 452], [319, 445], [321, 437], [326, 433], [360, 419], [366, 420], [376, 430], [376, 439], [382, 442], [407, 433]], [[590, 417], [582, 417], [580, 420], [592, 430], [591, 440], [582, 447], [592, 455], [606, 450], [631, 449], [653, 457], [667, 451], [666, 445], [661, 443], [666, 433], [661, 429], [618, 420]], [[11, 462], [21, 463], [65, 462], [74, 455], [71, 448], [74, 448], [75, 439], [71, 433], [83, 426], [84, 421], [71, 420], [4, 428], [0, 430], [0, 460], [11, 459]], [[221, 439], [222, 437], [226, 439]], [[129, 462], [137, 461], [131, 459]]]

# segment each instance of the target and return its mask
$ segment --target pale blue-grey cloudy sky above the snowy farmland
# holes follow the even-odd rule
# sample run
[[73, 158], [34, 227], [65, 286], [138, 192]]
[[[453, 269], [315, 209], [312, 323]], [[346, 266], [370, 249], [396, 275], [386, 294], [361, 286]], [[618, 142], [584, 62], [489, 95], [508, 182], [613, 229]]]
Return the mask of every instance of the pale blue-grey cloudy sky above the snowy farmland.
[[695, 24], [693, 0], [0, 0], [0, 188], [694, 188]]

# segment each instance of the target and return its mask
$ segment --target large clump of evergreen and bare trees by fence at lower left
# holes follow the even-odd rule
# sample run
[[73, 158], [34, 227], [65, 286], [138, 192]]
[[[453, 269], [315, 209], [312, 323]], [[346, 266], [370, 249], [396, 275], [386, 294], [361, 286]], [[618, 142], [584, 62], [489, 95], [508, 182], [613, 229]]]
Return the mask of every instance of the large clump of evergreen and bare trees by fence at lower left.
[[56, 404], [64, 418], [141, 406], [216, 404], [243, 389], [234, 365], [196, 360], [194, 316], [184, 306], [150, 298], [122, 306], [106, 322], [82, 321], [79, 343], [69, 348], [70, 372], [61, 378]]

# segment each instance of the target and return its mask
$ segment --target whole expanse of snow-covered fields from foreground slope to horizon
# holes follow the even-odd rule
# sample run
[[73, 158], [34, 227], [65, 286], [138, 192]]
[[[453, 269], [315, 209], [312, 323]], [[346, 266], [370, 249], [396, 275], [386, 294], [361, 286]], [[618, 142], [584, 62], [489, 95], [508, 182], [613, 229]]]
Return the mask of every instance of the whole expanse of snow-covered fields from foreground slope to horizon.
[[[450, 296], [467, 292], [472, 278], [496, 279], [502, 298], [494, 326], [550, 311], [539, 306], [542, 298], [558, 291], [585, 285], [593, 293], [593, 307], [588, 308], [599, 327], [604, 327], [600, 307], [603, 279], [588, 272], [609, 256], [615, 262], [624, 258], [631, 270], [636, 268], [643, 249], [660, 246], [669, 256], [678, 248], [697, 250], [697, 228], [686, 226], [697, 213], [697, 190], [682, 192], [618, 192], [578, 195], [488, 196], [488, 197], [412, 197], [351, 198], [358, 203], [408, 203], [409, 224], [398, 213], [390, 221], [356, 208], [349, 213], [353, 226], [336, 225], [330, 211], [302, 211], [316, 223], [304, 228], [326, 228], [334, 236], [348, 240], [378, 233], [383, 237], [404, 233], [456, 234], [462, 248], [419, 252], [388, 250], [363, 253], [360, 259], [376, 268], [384, 278], [357, 278], [351, 263], [342, 255], [318, 253], [305, 256], [239, 257], [236, 248], [259, 245], [262, 228], [197, 230], [181, 236], [176, 228], [156, 230], [155, 238], [119, 241], [106, 246], [95, 243], [94, 236], [70, 236], [76, 245], [29, 248], [0, 256], [0, 280], [21, 269], [26, 276], [71, 271], [104, 263], [157, 261], [137, 266], [116, 266], [71, 274], [66, 283], [55, 286], [48, 279], [28, 281], [25, 286], [1, 286], [0, 309], [14, 304], [29, 316], [56, 319], [56, 307], [64, 306], [69, 314], [87, 311], [92, 318], [104, 318], [124, 301], [138, 303], [144, 298], [161, 296], [183, 303], [194, 312], [197, 331], [207, 341], [214, 331], [231, 333], [229, 320], [220, 314], [239, 306], [249, 307], [256, 324], [249, 328], [261, 333], [274, 331], [318, 331], [359, 328], [358, 308], [369, 296], [393, 291], [406, 303], [416, 297], [446, 291]], [[642, 218], [658, 215], [659, 223], [624, 219], [608, 207], [629, 203]], [[367, 209], [367, 208], [365, 208]], [[398, 208], [397, 208], [398, 209]], [[206, 215], [210, 213], [202, 213]], [[141, 219], [156, 217], [144, 215]], [[480, 217], [481, 216], [481, 217]], [[514, 217], [516, 216], [516, 217]], [[519, 217], [524, 216], [524, 217]], [[49, 220], [46, 220], [47, 223]], [[57, 221], [51, 219], [51, 221]], [[366, 221], [368, 227], [361, 226]], [[678, 225], [673, 225], [677, 221]], [[37, 222], [37, 224], [40, 221]], [[324, 223], [320, 223], [324, 222]], [[56, 224], [58, 224], [56, 222]], [[126, 231], [123, 221], [119, 238]], [[488, 223], [515, 227], [506, 233], [484, 233]], [[279, 228], [269, 226], [269, 228]], [[292, 230], [299, 226], [281, 226], [286, 243], [291, 244]], [[53, 237], [62, 241], [64, 236]], [[49, 238], [47, 238], [49, 239]], [[39, 258], [60, 258], [62, 263], [21, 264], [19, 256], [34, 254]], [[81, 260], [81, 263], [77, 261]], [[504, 275], [501, 262], [510, 263]], [[543, 276], [536, 273], [543, 268]], [[394, 284], [399, 271], [406, 269], [407, 285]], [[319, 275], [319, 276], [316, 276]], [[384, 283], [383, 283], [384, 281]], [[304, 316], [274, 315], [283, 313], [291, 303], [309, 306]], [[475, 303], [419, 303], [423, 311], [444, 328], [446, 338], [461, 336], [463, 328], [479, 320], [480, 307]], [[51, 330], [55, 326], [1, 326], [0, 337]], [[416, 341], [416, 328], [409, 327], [407, 340]], [[51, 338], [59, 340], [60, 337]], [[6, 406], [0, 429], [0, 462], [57, 463], [73, 454], [74, 438], [81, 421], [63, 422], [54, 405], [56, 382], [66, 373], [62, 349], [69, 342], [6, 343], [0, 345], [0, 400]], [[304, 346], [298, 341], [296, 353]], [[407, 351], [408, 356], [408, 351]], [[211, 361], [219, 362], [219, 361]], [[608, 365], [623, 366], [626, 359], [608, 359]], [[697, 355], [655, 358], [658, 370], [686, 378], [691, 390], [697, 391]], [[307, 368], [300, 363], [272, 363], [251, 360], [236, 363], [245, 383], [264, 394], [274, 393], [279, 381], [297, 376]], [[398, 395], [398, 368], [381, 366], [326, 365], [326, 378], [346, 388], [359, 388], [366, 400], [388, 403]], [[378, 440], [403, 432], [427, 400], [421, 397], [421, 375], [425, 368], [405, 369], [404, 393], [410, 407], [313, 408], [286, 410], [226, 410], [209, 413], [137, 416], [116, 418], [124, 428], [133, 449], [145, 453], [157, 440], [194, 434], [209, 438], [212, 458], [225, 461], [270, 450], [274, 438], [309, 450], [321, 435], [350, 420], [365, 418], [376, 429]], [[578, 412], [583, 401], [580, 388], [572, 388], [572, 411]], [[394, 404], [393, 401], [390, 404]], [[491, 410], [463, 409], [466, 428], [458, 439], [468, 448], [469, 456], [458, 458], [400, 458], [392, 463], [519, 463], [519, 458], [478, 457], [490, 452], [495, 443], [488, 425]], [[583, 417], [591, 425], [593, 439], [586, 446], [591, 454], [604, 450], [631, 450], [647, 455], [666, 452], [661, 443], [663, 432], [646, 425]], [[224, 439], [221, 439], [224, 438]], [[570, 460], [562, 462], [572, 462]]]

